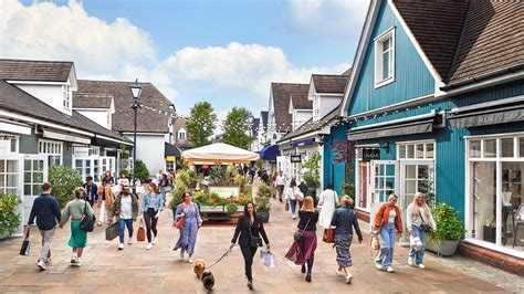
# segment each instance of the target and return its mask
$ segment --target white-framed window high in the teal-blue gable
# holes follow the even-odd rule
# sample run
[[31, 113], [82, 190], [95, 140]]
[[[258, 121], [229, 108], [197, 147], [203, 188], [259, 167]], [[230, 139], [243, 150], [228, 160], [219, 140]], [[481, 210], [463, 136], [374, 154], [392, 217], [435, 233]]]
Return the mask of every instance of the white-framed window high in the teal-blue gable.
[[375, 39], [375, 87], [395, 82], [395, 29]]

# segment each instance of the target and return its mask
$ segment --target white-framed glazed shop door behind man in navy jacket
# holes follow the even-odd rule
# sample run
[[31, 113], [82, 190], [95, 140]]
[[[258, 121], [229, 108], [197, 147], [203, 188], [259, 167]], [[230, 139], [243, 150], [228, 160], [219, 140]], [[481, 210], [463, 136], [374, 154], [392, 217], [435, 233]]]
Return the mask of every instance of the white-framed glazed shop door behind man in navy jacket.
[[34, 199], [42, 193], [42, 183], [48, 181], [48, 156], [23, 156], [23, 223], [28, 223]]

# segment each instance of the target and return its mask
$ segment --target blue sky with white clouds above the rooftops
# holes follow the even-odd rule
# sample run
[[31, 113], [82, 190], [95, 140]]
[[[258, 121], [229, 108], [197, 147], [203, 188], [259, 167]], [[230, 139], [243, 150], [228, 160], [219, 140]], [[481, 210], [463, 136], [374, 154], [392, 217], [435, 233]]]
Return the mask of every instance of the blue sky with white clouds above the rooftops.
[[0, 57], [73, 61], [77, 78], [150, 82], [180, 115], [268, 111], [271, 82], [352, 62], [369, 0], [0, 0]]

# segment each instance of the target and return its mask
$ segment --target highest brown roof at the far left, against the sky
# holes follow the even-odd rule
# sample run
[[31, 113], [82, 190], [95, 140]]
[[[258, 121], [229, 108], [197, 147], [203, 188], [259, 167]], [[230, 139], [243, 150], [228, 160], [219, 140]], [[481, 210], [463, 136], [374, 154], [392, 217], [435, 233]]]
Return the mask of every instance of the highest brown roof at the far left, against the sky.
[[0, 78], [11, 81], [67, 82], [73, 62], [0, 59]]

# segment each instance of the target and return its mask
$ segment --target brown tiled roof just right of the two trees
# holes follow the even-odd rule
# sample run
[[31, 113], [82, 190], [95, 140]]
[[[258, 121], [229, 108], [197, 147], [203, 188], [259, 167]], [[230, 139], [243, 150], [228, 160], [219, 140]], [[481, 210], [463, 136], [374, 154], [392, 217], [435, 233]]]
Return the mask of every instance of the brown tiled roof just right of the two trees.
[[[290, 99], [292, 96], [307, 97], [308, 90], [308, 84], [271, 83], [276, 124], [274, 127], [276, 132], [286, 133], [291, 129]], [[298, 108], [297, 106], [294, 107]]]

